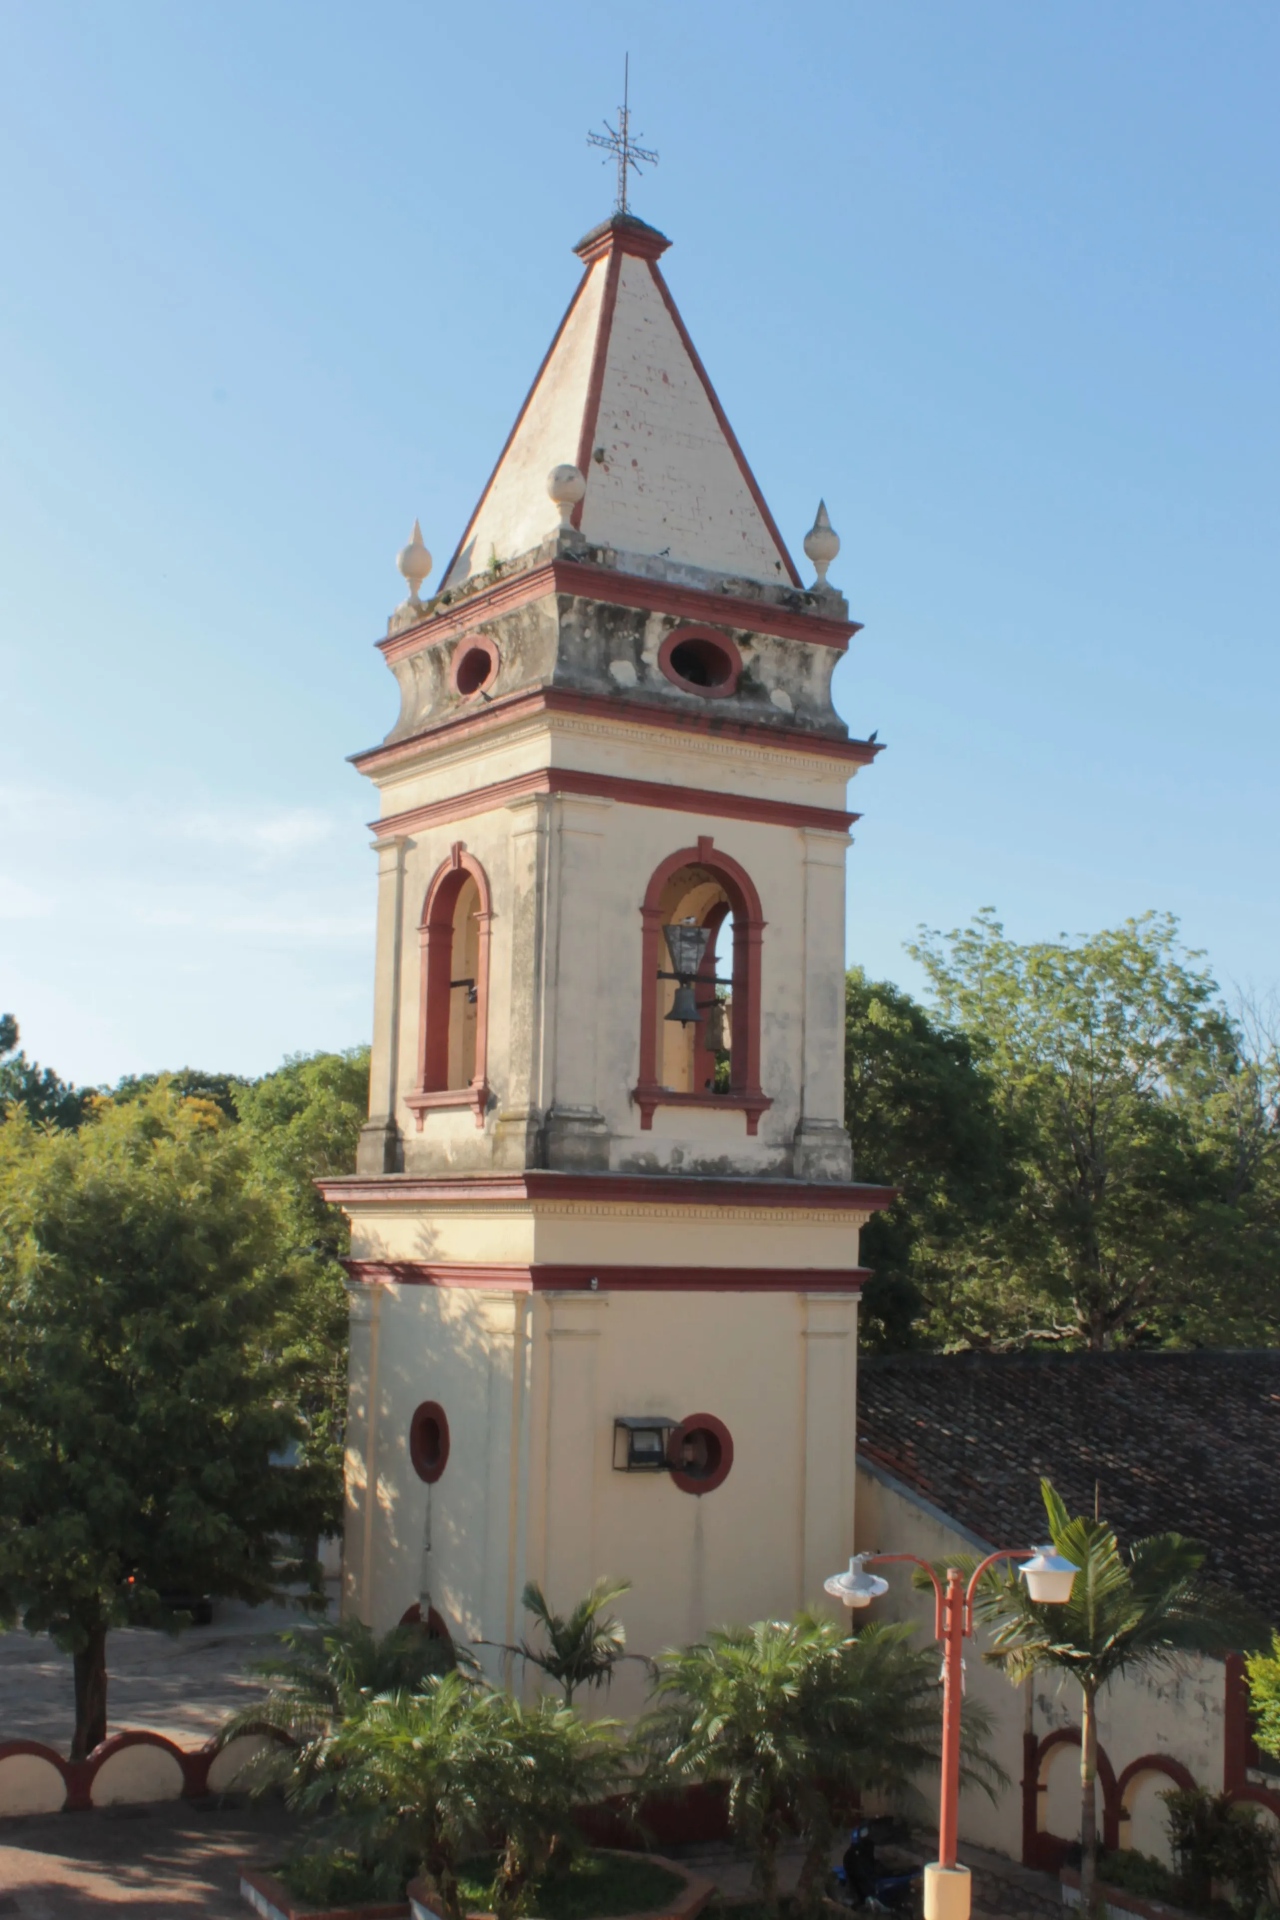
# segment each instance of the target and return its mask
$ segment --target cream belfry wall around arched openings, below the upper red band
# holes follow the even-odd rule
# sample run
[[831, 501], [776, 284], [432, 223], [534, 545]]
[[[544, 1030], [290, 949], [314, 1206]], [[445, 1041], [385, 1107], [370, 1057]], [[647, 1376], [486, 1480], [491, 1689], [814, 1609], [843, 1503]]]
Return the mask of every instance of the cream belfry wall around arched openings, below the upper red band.
[[[641, 899], [654, 868], [700, 835], [750, 874], [768, 922], [760, 1081], [773, 1106], [754, 1139], [745, 1116], [727, 1112], [658, 1110], [645, 1133], [629, 1100], [639, 1077]], [[499, 1114], [601, 1114], [614, 1137], [614, 1165], [729, 1154], [735, 1169], [760, 1171], [789, 1148], [802, 1098], [806, 1117], [841, 1123], [846, 835], [541, 797], [411, 835], [403, 887], [386, 889], [405, 906], [399, 983], [391, 941], [380, 948], [386, 995], [399, 985], [395, 1112], [411, 1146], [416, 1123], [405, 1094], [418, 1081], [416, 925], [455, 841], [482, 862], [493, 889], [487, 1075]], [[384, 1027], [390, 1044], [390, 1020]], [[468, 1112], [428, 1114], [424, 1131], [445, 1150], [474, 1140]]]

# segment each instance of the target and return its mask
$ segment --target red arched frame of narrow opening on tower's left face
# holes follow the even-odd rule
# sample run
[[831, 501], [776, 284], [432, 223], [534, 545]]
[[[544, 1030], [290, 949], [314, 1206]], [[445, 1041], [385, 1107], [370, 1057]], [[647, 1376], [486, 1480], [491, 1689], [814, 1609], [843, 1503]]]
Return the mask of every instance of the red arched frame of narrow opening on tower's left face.
[[[476, 925], [476, 1068], [466, 1087], [449, 1087], [449, 977], [453, 973], [453, 914], [459, 893], [468, 879], [476, 881], [480, 912]], [[418, 1085], [405, 1094], [418, 1133], [422, 1117], [432, 1108], [468, 1106], [476, 1125], [484, 1127], [489, 1104], [489, 933], [493, 927], [493, 897], [489, 876], [462, 841], [455, 841], [426, 889], [418, 945], [422, 950], [418, 987]]]

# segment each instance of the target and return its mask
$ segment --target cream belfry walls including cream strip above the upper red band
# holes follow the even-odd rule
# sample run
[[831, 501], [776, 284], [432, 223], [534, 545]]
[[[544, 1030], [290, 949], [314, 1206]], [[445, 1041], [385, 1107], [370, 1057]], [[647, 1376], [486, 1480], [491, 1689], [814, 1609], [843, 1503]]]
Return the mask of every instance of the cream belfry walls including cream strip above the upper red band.
[[[848, 770], [814, 755], [654, 735], [624, 724], [539, 720], [434, 751], [382, 787], [384, 816], [551, 764], [666, 785], [716, 785], [760, 799], [844, 806]], [[741, 1114], [658, 1110], [641, 1131], [641, 918], [654, 868], [710, 835], [750, 874], [768, 922], [762, 948], [762, 1085], [773, 1096], [756, 1137]], [[549, 1110], [599, 1116], [612, 1165], [679, 1167], [725, 1158], [779, 1171], [796, 1123], [842, 1123], [842, 831], [762, 826], [610, 799], [535, 795], [399, 835], [378, 852], [378, 948], [370, 1116], [393, 1114], [415, 1156], [476, 1165], [470, 1112], [432, 1112], [418, 1133], [405, 1094], [418, 1083], [420, 947], [426, 889], [462, 841], [493, 893], [487, 1077], [489, 1131]], [[495, 1119], [499, 1127], [495, 1129]], [[486, 1148], [487, 1150], [487, 1148]], [[501, 1162], [501, 1142], [495, 1146]], [[514, 1146], [510, 1164], [520, 1164]]]

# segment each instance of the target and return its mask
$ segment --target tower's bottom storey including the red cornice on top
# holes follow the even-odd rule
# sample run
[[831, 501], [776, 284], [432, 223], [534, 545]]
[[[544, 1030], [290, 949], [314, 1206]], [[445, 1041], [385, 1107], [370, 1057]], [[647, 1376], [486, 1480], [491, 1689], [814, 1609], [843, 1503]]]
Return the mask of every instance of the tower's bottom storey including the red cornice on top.
[[[512, 1642], [526, 1580], [566, 1609], [612, 1574], [629, 1647], [658, 1653], [825, 1605], [883, 1188], [401, 1175], [326, 1198], [353, 1221], [349, 1613], [386, 1630], [430, 1605], [462, 1645]], [[695, 1471], [628, 1467], [637, 1419], [700, 1434]], [[612, 1709], [643, 1692], [629, 1668]]]

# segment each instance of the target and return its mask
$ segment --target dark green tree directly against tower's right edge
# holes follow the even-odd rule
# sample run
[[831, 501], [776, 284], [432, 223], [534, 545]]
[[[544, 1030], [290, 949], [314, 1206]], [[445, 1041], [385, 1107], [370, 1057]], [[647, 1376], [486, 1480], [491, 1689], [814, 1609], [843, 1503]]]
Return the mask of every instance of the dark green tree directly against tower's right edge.
[[844, 1125], [858, 1179], [898, 1188], [862, 1231], [873, 1277], [860, 1338], [902, 1350], [944, 1336], [952, 1286], [1007, 1219], [1015, 1154], [969, 1037], [862, 968], [844, 975]]

